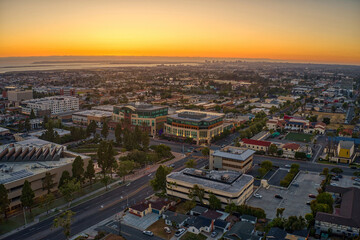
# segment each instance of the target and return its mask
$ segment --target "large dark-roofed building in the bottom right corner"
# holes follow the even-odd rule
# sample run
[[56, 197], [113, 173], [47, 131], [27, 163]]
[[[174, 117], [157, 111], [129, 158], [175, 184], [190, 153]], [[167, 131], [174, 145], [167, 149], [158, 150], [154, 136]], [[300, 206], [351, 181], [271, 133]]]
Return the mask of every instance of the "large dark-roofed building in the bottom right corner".
[[329, 186], [327, 192], [340, 197], [340, 208], [334, 213], [318, 212], [315, 228], [323, 232], [332, 229], [333, 234], [347, 237], [359, 236], [360, 232], [360, 189]]

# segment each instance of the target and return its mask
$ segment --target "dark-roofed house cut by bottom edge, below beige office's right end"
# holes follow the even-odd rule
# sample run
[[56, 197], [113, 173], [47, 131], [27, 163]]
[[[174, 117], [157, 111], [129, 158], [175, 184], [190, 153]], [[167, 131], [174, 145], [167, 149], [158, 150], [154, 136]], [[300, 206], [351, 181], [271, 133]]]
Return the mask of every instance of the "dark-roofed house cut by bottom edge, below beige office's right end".
[[255, 225], [250, 222], [237, 222], [223, 236], [226, 240], [260, 240], [261, 237], [255, 235]]

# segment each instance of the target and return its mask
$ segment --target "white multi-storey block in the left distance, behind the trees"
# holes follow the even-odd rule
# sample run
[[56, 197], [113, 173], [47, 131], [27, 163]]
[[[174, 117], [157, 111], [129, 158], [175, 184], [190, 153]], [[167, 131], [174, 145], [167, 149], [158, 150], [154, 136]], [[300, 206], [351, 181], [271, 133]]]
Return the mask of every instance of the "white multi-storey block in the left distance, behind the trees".
[[79, 99], [69, 96], [54, 96], [39, 99], [31, 99], [21, 104], [22, 113], [30, 114], [31, 110], [39, 116], [39, 112], [49, 111], [51, 115], [79, 110]]

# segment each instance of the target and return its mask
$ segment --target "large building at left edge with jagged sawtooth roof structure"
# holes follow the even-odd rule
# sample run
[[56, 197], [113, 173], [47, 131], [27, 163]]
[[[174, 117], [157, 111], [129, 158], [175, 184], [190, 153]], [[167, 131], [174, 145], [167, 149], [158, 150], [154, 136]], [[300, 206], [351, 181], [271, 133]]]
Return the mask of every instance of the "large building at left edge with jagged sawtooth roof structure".
[[56, 191], [63, 171], [71, 174], [74, 159], [80, 156], [86, 169], [90, 157], [73, 153], [66, 146], [32, 138], [0, 146], [0, 184], [8, 190], [10, 210], [21, 207], [20, 196], [25, 180], [31, 184], [35, 198], [47, 193], [42, 181], [46, 173], [53, 176]]

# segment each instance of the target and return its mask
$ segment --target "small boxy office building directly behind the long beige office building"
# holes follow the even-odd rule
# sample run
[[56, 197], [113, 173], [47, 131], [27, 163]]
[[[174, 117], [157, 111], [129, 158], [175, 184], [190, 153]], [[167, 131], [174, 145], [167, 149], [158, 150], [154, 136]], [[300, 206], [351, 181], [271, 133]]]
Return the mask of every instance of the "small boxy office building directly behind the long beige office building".
[[222, 150], [210, 151], [210, 170], [234, 170], [246, 173], [253, 163], [255, 151], [237, 147], [226, 147]]

